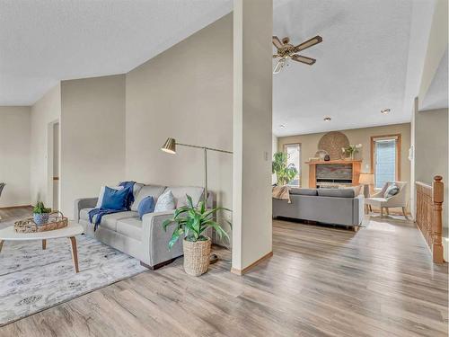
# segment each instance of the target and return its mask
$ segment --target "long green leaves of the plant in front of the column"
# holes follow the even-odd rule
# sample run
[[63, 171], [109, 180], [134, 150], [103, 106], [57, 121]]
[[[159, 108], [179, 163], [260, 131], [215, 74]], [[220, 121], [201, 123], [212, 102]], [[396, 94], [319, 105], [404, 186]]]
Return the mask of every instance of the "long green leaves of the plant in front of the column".
[[[167, 226], [172, 223], [176, 224], [173, 230], [172, 238], [168, 243], [169, 249], [172, 249], [181, 236], [191, 242], [207, 241], [207, 236], [203, 235], [204, 231], [212, 227], [216, 230], [216, 233], [220, 239], [225, 236], [229, 240], [229, 235], [225, 232], [223, 227], [218, 224], [214, 219], [218, 210], [227, 210], [227, 208], [212, 208], [207, 209], [204, 201], [198, 203], [198, 207], [193, 205], [192, 199], [187, 195], [187, 206], [178, 208], [174, 212], [174, 216], [170, 219], [163, 221], [163, 230], [167, 231]], [[226, 221], [230, 226], [231, 223]]]

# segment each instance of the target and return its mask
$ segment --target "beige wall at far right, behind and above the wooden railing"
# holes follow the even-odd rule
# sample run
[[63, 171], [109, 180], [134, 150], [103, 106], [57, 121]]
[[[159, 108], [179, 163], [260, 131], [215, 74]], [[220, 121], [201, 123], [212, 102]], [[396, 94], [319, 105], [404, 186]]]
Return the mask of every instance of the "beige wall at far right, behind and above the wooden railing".
[[444, 225], [448, 226], [448, 109], [418, 112], [415, 115], [415, 177], [432, 184], [441, 175], [445, 182]]

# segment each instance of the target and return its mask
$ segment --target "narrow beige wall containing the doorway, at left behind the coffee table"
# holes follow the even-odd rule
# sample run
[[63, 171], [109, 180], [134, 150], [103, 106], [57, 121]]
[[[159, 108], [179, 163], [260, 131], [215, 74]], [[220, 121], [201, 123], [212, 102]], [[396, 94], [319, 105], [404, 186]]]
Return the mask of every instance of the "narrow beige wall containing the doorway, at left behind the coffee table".
[[61, 86], [57, 84], [31, 107], [31, 203], [53, 201], [48, 155], [53, 148], [52, 123], [61, 117]]

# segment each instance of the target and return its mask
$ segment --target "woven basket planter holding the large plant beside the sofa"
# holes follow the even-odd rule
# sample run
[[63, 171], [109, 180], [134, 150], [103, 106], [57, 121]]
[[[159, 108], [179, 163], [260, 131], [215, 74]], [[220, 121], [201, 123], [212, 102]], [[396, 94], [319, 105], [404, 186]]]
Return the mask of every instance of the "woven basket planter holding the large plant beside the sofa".
[[191, 242], [184, 239], [184, 270], [189, 275], [199, 276], [204, 274], [209, 267], [211, 240]]

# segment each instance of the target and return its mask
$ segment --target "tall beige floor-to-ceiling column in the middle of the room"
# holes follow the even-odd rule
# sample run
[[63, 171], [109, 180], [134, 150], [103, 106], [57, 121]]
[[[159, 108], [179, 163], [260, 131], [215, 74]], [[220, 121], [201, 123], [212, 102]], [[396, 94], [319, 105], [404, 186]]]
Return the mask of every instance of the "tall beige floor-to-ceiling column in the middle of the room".
[[234, 0], [233, 272], [272, 254], [272, 0]]

